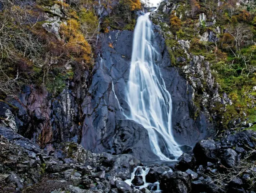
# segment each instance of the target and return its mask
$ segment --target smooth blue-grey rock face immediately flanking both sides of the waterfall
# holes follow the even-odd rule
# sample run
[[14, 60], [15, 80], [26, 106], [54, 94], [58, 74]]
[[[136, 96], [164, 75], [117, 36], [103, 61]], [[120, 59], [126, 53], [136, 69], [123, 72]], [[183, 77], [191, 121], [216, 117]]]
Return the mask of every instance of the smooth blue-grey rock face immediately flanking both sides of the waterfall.
[[[123, 111], [129, 109], [125, 101], [132, 54], [132, 31], [112, 31], [100, 35], [99, 56], [93, 70], [92, 84], [83, 102], [86, 115], [82, 129], [81, 144], [86, 149], [100, 153], [131, 153], [141, 160], [154, 160], [146, 129], [132, 120], [125, 120]], [[177, 142], [194, 146], [208, 137], [213, 126], [207, 116], [200, 112], [196, 120], [191, 118], [194, 110], [194, 90], [170, 63], [165, 41], [155, 27], [152, 40], [159, 53], [157, 65], [172, 96], [172, 123]]]

